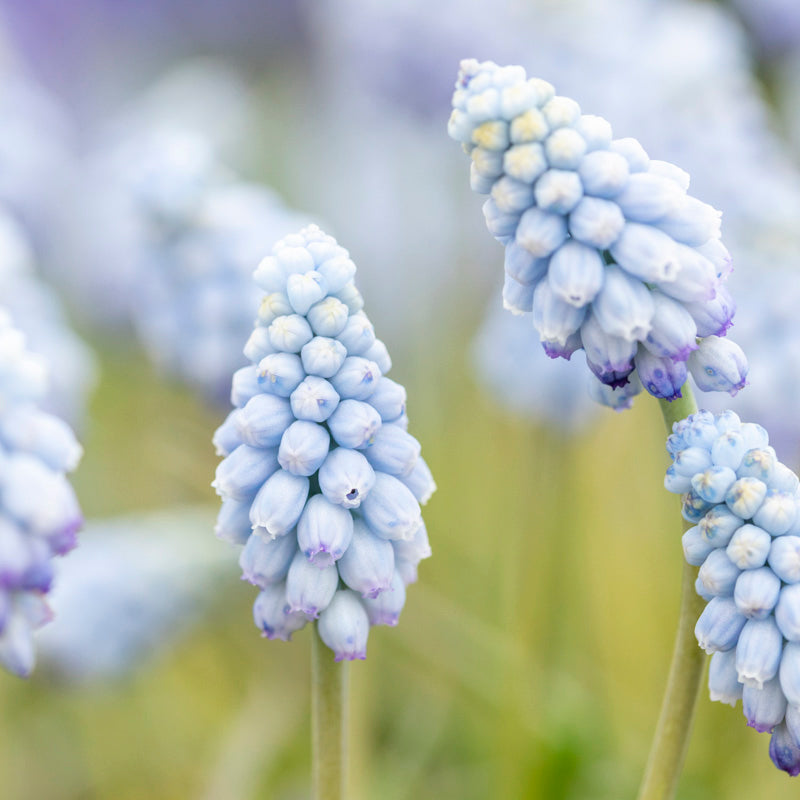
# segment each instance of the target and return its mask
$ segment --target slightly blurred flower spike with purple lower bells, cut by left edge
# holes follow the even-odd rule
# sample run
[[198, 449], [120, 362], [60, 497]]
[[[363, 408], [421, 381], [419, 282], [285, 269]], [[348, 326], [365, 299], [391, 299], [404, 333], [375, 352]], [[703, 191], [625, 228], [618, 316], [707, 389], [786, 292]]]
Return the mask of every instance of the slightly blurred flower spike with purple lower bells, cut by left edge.
[[83, 518], [65, 472], [82, 455], [69, 426], [40, 411], [44, 362], [0, 310], [0, 664], [26, 677], [33, 631], [50, 620], [53, 557], [75, 544]]

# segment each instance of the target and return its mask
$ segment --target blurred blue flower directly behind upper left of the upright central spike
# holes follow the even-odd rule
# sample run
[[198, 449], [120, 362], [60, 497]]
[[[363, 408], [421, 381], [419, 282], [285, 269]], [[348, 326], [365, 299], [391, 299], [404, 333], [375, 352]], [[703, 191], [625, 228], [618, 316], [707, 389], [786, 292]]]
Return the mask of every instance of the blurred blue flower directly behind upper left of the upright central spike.
[[[133, 316], [151, 359], [166, 373], [222, 403], [230, 373], [244, 363], [241, 342], [258, 306], [252, 265], [297, 216], [269, 190], [230, 183], [198, 206], [145, 255]], [[157, 215], [152, 219], [158, 228]]]

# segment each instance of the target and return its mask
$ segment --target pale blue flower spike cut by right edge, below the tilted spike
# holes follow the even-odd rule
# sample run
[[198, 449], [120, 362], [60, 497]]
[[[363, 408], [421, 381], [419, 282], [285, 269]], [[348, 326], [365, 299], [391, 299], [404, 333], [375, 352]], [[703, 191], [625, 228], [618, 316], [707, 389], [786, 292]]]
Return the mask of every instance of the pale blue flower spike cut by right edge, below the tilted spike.
[[699, 411], [673, 426], [666, 488], [683, 494], [689, 564], [707, 601], [695, 627], [712, 654], [712, 700], [742, 700], [772, 734], [770, 757], [800, 774], [800, 481], [760, 425]]

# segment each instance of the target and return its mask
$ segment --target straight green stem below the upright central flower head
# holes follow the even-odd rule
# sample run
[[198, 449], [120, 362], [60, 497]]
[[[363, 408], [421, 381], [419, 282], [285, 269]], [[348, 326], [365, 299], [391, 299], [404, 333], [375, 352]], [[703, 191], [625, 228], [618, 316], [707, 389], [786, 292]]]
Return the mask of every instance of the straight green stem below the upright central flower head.
[[337, 663], [314, 625], [311, 645], [311, 758], [314, 800], [342, 800], [347, 763], [347, 662]]

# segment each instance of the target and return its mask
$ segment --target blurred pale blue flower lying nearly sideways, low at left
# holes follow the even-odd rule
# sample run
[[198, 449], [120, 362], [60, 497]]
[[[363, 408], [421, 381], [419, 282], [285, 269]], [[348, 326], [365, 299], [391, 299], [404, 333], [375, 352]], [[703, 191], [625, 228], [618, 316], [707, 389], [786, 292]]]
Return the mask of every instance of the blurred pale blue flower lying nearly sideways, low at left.
[[202, 619], [227, 562], [197, 536], [209, 517], [187, 507], [87, 523], [50, 595], [57, 616], [37, 637], [44, 669], [76, 683], [118, 678]]

